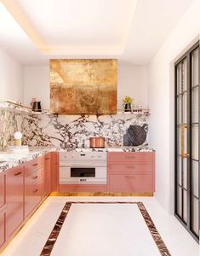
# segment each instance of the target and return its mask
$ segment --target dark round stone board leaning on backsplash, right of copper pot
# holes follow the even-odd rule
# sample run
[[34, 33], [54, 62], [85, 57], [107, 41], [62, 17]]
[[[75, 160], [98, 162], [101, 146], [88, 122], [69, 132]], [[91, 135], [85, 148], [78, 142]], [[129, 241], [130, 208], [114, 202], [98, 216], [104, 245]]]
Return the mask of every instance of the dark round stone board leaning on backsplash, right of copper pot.
[[146, 142], [146, 125], [130, 125], [123, 136], [123, 146], [140, 146]]

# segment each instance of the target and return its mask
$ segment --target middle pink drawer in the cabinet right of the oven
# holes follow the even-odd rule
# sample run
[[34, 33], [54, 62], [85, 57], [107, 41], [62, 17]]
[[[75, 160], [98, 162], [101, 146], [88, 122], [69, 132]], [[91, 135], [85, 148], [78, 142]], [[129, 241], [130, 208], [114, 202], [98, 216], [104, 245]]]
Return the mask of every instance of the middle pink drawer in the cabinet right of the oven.
[[123, 164], [108, 164], [108, 172], [151, 172], [151, 164], [134, 164], [134, 163], [123, 163]]

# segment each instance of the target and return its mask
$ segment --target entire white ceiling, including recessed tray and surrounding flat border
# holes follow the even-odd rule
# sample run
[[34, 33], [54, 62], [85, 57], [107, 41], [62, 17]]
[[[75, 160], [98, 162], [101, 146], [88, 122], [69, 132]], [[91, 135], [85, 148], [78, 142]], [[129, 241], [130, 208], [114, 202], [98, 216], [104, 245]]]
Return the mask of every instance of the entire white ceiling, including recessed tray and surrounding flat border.
[[24, 65], [117, 58], [146, 65], [193, 0], [2, 0], [0, 47]]

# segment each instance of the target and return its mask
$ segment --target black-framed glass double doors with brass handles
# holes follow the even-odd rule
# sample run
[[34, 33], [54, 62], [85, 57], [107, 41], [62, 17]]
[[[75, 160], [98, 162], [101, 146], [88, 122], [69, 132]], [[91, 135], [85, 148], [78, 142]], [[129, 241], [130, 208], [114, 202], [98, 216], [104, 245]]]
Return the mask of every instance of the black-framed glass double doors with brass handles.
[[199, 239], [199, 42], [175, 63], [175, 216]]

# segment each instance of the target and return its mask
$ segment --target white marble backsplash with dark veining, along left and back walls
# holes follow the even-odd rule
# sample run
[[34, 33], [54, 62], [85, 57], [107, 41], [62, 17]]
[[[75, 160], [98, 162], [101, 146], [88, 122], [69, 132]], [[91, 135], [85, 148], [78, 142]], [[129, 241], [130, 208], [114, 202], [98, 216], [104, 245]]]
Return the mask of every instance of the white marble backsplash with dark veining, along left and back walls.
[[14, 131], [21, 131], [23, 143], [29, 146], [56, 148], [89, 148], [89, 137], [106, 137], [107, 147], [123, 146], [123, 135], [129, 125], [140, 125], [148, 141], [149, 113], [115, 115], [56, 115], [33, 113], [16, 108], [0, 108], [0, 145], [12, 143]]

